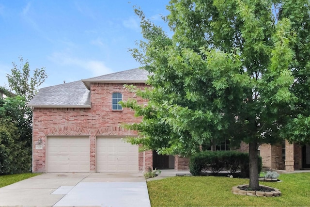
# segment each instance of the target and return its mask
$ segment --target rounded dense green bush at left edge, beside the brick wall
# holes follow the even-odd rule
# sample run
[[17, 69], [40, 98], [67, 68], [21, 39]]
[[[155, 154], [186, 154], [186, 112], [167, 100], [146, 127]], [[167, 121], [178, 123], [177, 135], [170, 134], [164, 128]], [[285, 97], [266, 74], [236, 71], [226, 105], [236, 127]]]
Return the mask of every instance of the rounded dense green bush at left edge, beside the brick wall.
[[17, 131], [13, 123], [0, 118], [0, 175], [31, 170], [31, 152]]

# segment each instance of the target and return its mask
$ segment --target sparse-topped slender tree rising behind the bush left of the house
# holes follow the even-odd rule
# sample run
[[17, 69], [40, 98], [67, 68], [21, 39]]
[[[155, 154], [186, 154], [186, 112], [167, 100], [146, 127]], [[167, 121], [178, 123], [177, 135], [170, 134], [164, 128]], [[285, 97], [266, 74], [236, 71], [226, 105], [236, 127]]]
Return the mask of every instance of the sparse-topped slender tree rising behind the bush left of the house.
[[31, 72], [29, 62], [19, 57], [20, 65], [13, 63], [11, 74], [6, 74], [9, 89], [17, 96], [6, 98], [1, 105], [2, 116], [7, 116], [19, 130], [20, 139], [26, 141], [29, 150], [32, 146], [32, 111], [28, 102], [38, 91], [38, 87], [47, 79], [42, 67]]

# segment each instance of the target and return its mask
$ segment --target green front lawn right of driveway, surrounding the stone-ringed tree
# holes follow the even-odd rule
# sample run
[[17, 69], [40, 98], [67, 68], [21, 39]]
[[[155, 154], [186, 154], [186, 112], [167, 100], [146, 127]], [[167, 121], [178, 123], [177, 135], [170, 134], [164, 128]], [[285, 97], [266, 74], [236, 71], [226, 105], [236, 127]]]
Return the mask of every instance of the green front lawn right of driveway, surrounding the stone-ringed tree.
[[279, 197], [235, 195], [233, 186], [248, 179], [214, 176], [176, 176], [147, 182], [152, 207], [310, 206], [310, 173], [281, 174], [283, 182], [260, 182], [278, 188]]

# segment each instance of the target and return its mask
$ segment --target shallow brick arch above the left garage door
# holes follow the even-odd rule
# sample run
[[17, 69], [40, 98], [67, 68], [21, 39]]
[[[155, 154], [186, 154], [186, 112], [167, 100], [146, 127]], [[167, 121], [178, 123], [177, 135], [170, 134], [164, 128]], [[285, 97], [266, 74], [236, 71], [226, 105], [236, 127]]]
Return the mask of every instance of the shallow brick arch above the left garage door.
[[91, 130], [82, 127], [64, 126], [49, 128], [45, 130], [44, 133], [46, 136], [89, 136], [91, 135]]

